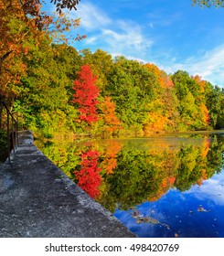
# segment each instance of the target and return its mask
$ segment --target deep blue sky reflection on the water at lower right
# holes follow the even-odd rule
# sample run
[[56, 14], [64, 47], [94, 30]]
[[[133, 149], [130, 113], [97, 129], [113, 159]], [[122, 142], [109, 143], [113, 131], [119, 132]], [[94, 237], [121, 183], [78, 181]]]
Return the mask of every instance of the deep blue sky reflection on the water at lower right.
[[[157, 219], [160, 223], [136, 223], [133, 218], [136, 211], [140, 216]], [[223, 238], [223, 214], [223, 170], [186, 192], [170, 189], [155, 202], [147, 201], [127, 211], [116, 209], [114, 213], [137, 236], [156, 238]]]

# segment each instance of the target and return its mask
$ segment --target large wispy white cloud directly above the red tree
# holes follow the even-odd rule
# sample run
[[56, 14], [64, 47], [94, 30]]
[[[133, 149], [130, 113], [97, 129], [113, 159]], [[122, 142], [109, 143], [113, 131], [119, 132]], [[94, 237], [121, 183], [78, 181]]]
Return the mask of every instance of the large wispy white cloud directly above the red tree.
[[87, 34], [83, 45], [91, 50], [97, 47], [141, 59], [153, 45], [153, 40], [145, 36], [142, 26], [132, 20], [115, 19], [97, 5], [83, 3], [71, 15], [80, 17], [80, 28]]

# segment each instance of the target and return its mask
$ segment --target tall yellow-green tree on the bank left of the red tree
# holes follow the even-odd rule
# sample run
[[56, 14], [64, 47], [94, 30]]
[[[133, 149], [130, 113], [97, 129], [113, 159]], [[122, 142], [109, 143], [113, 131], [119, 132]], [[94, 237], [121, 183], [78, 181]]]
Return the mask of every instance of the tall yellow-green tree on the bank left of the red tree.
[[29, 54], [24, 57], [27, 72], [21, 78], [14, 108], [23, 116], [25, 127], [49, 138], [72, 130], [67, 121], [78, 113], [69, 105], [66, 87], [70, 81], [55, 59], [58, 49], [51, 47], [47, 35], [38, 45], [35, 42], [29, 43]]

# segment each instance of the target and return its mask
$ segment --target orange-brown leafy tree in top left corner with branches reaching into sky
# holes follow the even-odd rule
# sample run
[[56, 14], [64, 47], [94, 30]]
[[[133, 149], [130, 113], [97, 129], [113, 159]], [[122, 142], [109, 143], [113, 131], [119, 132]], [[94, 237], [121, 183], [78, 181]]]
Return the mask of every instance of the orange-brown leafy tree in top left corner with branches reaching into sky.
[[63, 13], [47, 15], [38, 0], [0, 0], [0, 93], [13, 98], [19, 94], [17, 85], [26, 73], [24, 56], [29, 53], [30, 43], [38, 46], [46, 35], [67, 42], [63, 33], [79, 26], [79, 22]]

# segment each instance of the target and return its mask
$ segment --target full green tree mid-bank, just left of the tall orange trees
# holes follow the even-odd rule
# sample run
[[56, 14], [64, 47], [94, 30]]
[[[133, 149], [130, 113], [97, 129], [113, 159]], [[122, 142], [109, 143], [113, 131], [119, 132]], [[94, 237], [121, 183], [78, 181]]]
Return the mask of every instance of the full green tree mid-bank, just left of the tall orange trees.
[[106, 90], [116, 103], [124, 131], [142, 131], [155, 93], [154, 80], [143, 64], [123, 57], [115, 60]]

